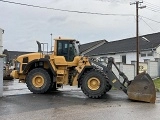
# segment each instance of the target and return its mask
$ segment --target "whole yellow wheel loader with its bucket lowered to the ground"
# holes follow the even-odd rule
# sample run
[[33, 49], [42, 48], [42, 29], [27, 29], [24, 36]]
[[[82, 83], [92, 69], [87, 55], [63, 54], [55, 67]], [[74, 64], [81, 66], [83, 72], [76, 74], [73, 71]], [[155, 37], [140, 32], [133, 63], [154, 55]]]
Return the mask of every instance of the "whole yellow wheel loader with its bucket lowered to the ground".
[[[113, 58], [107, 66], [95, 59], [79, 55], [79, 42], [75, 39], [54, 39], [54, 51], [44, 52], [45, 43], [38, 44], [38, 52], [17, 57], [11, 75], [27, 84], [33, 93], [46, 93], [63, 85], [77, 85], [90, 98], [100, 98], [112, 86], [126, 93], [129, 99], [155, 103], [156, 92], [151, 77], [141, 73], [129, 81]], [[43, 47], [42, 47], [43, 46]], [[123, 82], [112, 71], [115, 66]]]

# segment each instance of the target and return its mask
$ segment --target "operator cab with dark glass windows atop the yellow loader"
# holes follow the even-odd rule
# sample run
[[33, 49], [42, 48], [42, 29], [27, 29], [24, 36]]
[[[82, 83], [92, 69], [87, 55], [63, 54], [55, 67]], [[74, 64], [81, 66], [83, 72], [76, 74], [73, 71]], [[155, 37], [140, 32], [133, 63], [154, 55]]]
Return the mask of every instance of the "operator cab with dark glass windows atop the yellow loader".
[[57, 56], [64, 56], [66, 61], [73, 61], [79, 55], [79, 41], [74, 39], [55, 39]]

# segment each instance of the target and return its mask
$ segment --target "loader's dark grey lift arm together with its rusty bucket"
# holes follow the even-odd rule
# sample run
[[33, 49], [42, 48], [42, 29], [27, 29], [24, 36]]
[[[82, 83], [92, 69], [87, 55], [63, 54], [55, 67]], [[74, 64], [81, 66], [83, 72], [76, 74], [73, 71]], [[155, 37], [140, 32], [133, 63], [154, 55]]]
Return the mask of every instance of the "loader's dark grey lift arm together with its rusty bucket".
[[[148, 73], [140, 73], [139, 75], [135, 76], [134, 80], [129, 81], [127, 76], [117, 67], [112, 57], [108, 58], [107, 66], [102, 65], [95, 60], [90, 60], [90, 63], [91, 65], [95, 66], [96, 69], [99, 69], [106, 74], [106, 76], [109, 78], [107, 79], [109, 84], [115, 88], [118, 88], [119, 90], [123, 90], [128, 95], [129, 99], [155, 103], [155, 85]], [[113, 73], [113, 65], [118, 70], [119, 75], [123, 78], [124, 81], [122, 83]]]

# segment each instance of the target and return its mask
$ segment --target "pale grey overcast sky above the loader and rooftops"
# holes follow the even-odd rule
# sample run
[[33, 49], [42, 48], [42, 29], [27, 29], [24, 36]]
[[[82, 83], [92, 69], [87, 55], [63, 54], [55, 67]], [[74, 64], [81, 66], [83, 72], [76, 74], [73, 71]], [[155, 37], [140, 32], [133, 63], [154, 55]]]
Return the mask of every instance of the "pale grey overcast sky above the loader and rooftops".
[[[130, 5], [135, 0], [6, 0], [51, 9], [4, 1], [0, 0], [0, 28], [3, 49], [9, 51], [37, 51], [36, 41], [51, 48], [51, 40], [59, 36], [81, 44], [136, 36], [136, 6]], [[143, 0], [139, 6], [146, 6], [139, 9], [139, 34], [160, 32], [160, 0]]]

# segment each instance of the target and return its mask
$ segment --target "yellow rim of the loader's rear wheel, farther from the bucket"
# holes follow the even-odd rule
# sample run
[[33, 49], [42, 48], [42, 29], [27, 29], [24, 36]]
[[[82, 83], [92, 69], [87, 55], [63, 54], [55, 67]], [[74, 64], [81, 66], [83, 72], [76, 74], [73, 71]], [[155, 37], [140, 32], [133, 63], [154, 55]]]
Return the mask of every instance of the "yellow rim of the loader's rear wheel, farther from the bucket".
[[32, 79], [32, 83], [35, 87], [42, 87], [44, 84], [44, 78], [40, 75], [36, 75], [33, 79]]

